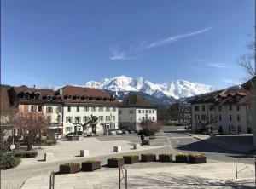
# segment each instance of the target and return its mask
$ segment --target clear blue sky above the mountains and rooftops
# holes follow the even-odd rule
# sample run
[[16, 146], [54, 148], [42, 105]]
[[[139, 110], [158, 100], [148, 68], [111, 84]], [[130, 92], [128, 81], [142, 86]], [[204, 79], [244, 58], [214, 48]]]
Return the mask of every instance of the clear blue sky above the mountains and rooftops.
[[125, 75], [224, 88], [245, 73], [254, 0], [3, 0], [1, 83]]

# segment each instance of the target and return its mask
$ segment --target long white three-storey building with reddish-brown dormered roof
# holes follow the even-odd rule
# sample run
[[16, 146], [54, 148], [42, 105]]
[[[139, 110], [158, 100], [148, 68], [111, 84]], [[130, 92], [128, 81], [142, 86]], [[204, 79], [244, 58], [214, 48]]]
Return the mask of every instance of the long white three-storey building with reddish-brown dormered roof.
[[[66, 86], [59, 90], [63, 100], [63, 134], [74, 132], [75, 127], [82, 131], [81, 124], [91, 116], [96, 123], [88, 125], [86, 132], [107, 134], [108, 129], [118, 129], [119, 102], [101, 89]], [[70, 123], [71, 122], [71, 123]], [[79, 124], [73, 124], [79, 123]]]

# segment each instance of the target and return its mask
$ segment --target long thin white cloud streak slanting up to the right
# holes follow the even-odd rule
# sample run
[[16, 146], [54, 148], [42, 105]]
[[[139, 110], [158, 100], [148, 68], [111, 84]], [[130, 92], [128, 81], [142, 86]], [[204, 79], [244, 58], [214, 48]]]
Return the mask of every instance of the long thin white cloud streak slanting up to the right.
[[177, 35], [173, 37], [167, 37], [165, 39], [161, 39], [159, 41], [156, 41], [154, 43], [138, 43], [136, 45], [132, 45], [127, 51], [120, 50], [120, 49], [110, 49], [110, 60], [131, 60], [133, 59], [137, 54], [142, 53], [145, 50], [164, 46], [168, 43], [177, 42], [180, 39], [191, 37], [195, 35], [199, 35], [201, 33], [207, 32], [212, 30], [212, 27], [207, 27], [199, 31], [193, 31], [182, 35]]

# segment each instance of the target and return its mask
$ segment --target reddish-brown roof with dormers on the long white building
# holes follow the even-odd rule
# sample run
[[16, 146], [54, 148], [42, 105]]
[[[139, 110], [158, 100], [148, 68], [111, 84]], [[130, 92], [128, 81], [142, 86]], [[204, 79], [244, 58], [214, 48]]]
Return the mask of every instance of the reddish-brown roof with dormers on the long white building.
[[65, 103], [119, 105], [117, 99], [101, 89], [67, 85], [60, 89], [60, 94]]

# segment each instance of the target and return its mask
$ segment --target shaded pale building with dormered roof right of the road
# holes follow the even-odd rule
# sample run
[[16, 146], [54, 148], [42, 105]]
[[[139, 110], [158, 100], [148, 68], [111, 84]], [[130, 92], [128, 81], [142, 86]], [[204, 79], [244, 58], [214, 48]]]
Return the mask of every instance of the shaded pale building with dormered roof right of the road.
[[192, 130], [211, 125], [224, 134], [251, 133], [250, 94], [246, 89], [229, 89], [201, 95], [191, 101]]

